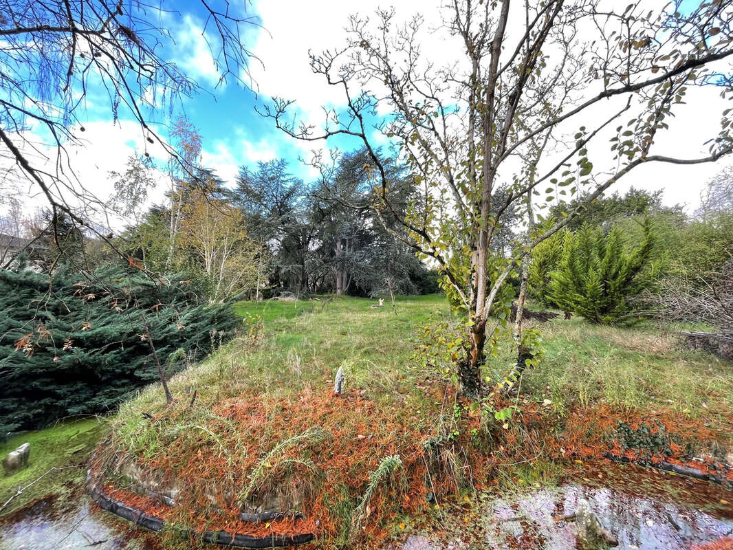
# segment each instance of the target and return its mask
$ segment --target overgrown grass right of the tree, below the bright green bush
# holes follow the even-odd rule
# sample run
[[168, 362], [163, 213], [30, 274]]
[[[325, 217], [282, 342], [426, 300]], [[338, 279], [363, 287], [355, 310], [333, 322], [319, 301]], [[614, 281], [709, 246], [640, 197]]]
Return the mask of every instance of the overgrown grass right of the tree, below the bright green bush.
[[733, 412], [733, 365], [685, 349], [652, 323], [597, 326], [582, 318], [539, 326], [547, 353], [524, 389], [545, 393], [560, 410], [608, 403], [627, 410], [672, 408], [725, 422]]

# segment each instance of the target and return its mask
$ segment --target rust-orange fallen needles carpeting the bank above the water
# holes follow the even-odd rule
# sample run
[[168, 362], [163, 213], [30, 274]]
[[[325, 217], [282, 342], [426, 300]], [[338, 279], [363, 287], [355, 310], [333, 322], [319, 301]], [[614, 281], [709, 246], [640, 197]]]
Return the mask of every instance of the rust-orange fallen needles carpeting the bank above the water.
[[[334, 395], [323, 389], [307, 389], [295, 396], [240, 395], [222, 400], [212, 407], [208, 433], [193, 428], [180, 431], [169, 438], [165, 452], [145, 464], [169, 480], [183, 480], [179, 505], [166, 507], [111, 485], [106, 486], [106, 492], [152, 516], [198, 531], [223, 530], [257, 537], [312, 532], [322, 540], [334, 540], [350, 527], [350, 516], [380, 461], [399, 455], [402, 468], [377, 485], [366, 510], [362, 510], [361, 532], [356, 533], [367, 535], [376, 545], [388, 535], [397, 514], [414, 516], [429, 510], [431, 493], [442, 497], [485, 488], [496, 481], [494, 469], [532, 461], [539, 453], [545, 460], [559, 461], [599, 459], [609, 450], [629, 458], [641, 456], [614, 439], [619, 422], [636, 429], [649, 424], [653, 417], [667, 433], [684, 441], [715, 439], [702, 419], [681, 419], [672, 411], [642, 414], [594, 406], [558, 417], [551, 408], [528, 397], [495, 404], [497, 409], [512, 403], [520, 406], [509, 429], [503, 429], [501, 422], [487, 421], [481, 411], [471, 412], [468, 403], [455, 397], [451, 386], [424, 381], [423, 387], [423, 399], [416, 402], [406, 397], [403, 406], [377, 403], [358, 390]], [[450, 414], [446, 415], [446, 410]], [[186, 414], [188, 409], [175, 408], [150, 422], [161, 427], [185, 424]], [[452, 423], [440, 427], [441, 422]], [[268, 460], [268, 453], [279, 442], [314, 427], [322, 428], [323, 436], [286, 445]], [[441, 439], [441, 449], [448, 453], [446, 461], [453, 461], [457, 473], [431, 466], [424, 443], [441, 430], [450, 433], [449, 438]], [[712, 472], [712, 465], [690, 463], [681, 445], [672, 444], [671, 450], [671, 456], [644, 456]], [[104, 466], [104, 459], [100, 459], [97, 469], [104, 472]], [[258, 467], [262, 478], [253, 482]], [[733, 472], [724, 473], [733, 479]], [[266, 524], [240, 521], [238, 497], [251, 483], [255, 492], [292, 487], [302, 497], [304, 518]]]

